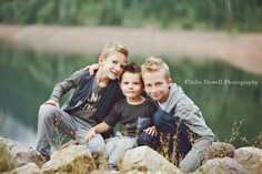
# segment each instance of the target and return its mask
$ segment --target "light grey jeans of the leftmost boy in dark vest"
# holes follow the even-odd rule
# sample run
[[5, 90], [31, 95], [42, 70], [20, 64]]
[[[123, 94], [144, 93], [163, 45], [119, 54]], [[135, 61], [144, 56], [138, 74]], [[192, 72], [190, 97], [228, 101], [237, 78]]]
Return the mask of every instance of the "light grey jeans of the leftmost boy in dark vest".
[[39, 109], [37, 151], [44, 156], [51, 155], [54, 126], [62, 134], [77, 140], [79, 144], [87, 145], [91, 154], [100, 154], [105, 150], [104, 140], [100, 134], [97, 134], [89, 143], [84, 142], [84, 136], [91, 125], [53, 105], [43, 104]]

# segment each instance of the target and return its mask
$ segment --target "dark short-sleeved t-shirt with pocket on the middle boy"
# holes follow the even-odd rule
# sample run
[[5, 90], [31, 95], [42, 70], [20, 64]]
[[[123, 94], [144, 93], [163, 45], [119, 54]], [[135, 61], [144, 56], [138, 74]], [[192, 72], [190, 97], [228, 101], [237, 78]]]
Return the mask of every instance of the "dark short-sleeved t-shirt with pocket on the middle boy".
[[155, 103], [149, 99], [138, 105], [129, 104], [125, 99], [122, 99], [114, 104], [110, 114], [103, 121], [110, 126], [120, 123], [122, 135], [137, 136], [139, 132], [139, 120], [148, 120], [150, 125], [152, 125], [151, 117], [155, 111]]

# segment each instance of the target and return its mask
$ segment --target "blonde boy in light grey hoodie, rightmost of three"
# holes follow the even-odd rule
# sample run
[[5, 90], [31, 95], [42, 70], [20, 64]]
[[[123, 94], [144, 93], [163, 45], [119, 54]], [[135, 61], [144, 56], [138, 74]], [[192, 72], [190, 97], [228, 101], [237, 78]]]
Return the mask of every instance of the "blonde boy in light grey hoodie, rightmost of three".
[[[155, 100], [160, 108], [153, 115], [153, 124], [158, 131], [171, 135], [179, 131], [178, 136], [181, 140], [178, 140], [175, 150], [184, 153], [179, 166], [185, 172], [194, 171], [203, 161], [214, 134], [205, 124], [199, 108], [178, 84], [172, 83], [169, 66], [161, 59], [147, 59], [142, 64], [142, 78], [147, 94]], [[190, 137], [187, 137], [189, 132], [195, 137], [192, 144], [189, 142]]]

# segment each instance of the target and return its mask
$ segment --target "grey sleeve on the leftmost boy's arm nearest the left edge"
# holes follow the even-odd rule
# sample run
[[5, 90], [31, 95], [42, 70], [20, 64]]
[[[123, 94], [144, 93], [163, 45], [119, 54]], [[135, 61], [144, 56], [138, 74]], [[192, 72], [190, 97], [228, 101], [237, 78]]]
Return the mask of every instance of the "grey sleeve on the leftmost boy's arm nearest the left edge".
[[70, 78], [64, 79], [62, 82], [59, 82], [54, 85], [53, 91], [50, 95], [50, 100], [59, 102], [59, 100], [71, 89], [77, 88], [82, 74], [83, 70], [79, 70], [74, 72]]

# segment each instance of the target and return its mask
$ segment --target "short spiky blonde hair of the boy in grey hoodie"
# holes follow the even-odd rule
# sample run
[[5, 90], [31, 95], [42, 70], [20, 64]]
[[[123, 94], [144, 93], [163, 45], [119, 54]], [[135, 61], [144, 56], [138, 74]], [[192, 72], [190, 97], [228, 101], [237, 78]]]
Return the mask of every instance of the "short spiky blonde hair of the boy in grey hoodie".
[[144, 72], [162, 71], [167, 79], [170, 79], [169, 65], [162, 59], [150, 57], [141, 65], [142, 75]]

